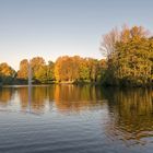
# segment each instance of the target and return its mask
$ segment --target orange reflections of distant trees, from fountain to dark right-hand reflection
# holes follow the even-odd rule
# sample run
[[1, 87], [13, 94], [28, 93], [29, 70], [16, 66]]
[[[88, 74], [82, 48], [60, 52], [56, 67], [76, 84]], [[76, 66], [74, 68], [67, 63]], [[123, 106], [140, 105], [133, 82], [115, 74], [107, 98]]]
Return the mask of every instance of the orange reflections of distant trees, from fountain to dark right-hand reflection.
[[52, 103], [59, 110], [78, 111], [87, 109], [102, 103], [102, 90], [99, 87], [90, 85], [50, 85], [50, 86], [33, 86], [32, 102], [28, 102], [28, 89], [17, 89], [21, 107], [26, 110], [31, 105], [31, 110], [43, 113], [48, 103], [50, 109]]

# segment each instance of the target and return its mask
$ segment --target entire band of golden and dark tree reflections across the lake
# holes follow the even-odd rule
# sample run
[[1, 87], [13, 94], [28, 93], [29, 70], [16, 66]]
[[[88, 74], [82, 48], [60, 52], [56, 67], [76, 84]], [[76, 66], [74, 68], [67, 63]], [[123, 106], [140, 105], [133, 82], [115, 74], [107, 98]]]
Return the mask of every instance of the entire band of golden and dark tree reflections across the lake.
[[[30, 95], [31, 94], [31, 95]], [[30, 97], [28, 97], [30, 96]], [[51, 85], [0, 89], [0, 107], [17, 106], [32, 114], [105, 110], [105, 134], [127, 145], [153, 142], [153, 91], [102, 89], [91, 85]], [[103, 107], [105, 106], [107, 107]], [[104, 123], [104, 121], [102, 121]], [[99, 122], [101, 123], [101, 122]]]

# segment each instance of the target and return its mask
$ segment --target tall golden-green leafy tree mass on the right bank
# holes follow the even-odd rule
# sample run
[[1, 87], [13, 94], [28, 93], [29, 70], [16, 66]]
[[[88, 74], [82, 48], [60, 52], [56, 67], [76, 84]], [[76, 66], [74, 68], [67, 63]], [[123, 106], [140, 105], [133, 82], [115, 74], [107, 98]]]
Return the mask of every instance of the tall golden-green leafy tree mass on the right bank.
[[[152, 39], [141, 26], [122, 28], [107, 57], [106, 82], [120, 85], [152, 84]], [[109, 34], [108, 34], [109, 35]]]

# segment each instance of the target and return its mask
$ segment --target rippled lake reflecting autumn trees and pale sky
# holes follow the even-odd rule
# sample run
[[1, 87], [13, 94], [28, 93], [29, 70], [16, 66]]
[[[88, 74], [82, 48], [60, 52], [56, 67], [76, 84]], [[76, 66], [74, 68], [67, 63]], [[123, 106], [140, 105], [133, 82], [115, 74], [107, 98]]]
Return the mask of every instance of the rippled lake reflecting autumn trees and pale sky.
[[0, 152], [152, 153], [153, 91], [1, 87]]

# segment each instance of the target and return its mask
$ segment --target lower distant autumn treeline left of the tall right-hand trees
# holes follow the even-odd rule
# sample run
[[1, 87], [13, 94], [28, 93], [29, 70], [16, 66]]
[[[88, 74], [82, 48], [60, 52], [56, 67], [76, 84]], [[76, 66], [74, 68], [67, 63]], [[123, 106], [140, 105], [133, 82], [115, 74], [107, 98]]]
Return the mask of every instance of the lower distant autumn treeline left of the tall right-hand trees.
[[56, 62], [45, 62], [43, 57], [34, 57], [30, 61], [23, 59], [20, 70], [14, 71], [7, 63], [0, 64], [2, 84], [27, 84], [28, 67], [32, 68], [34, 84], [49, 83], [99, 83], [106, 61], [79, 56], [59, 57]]

